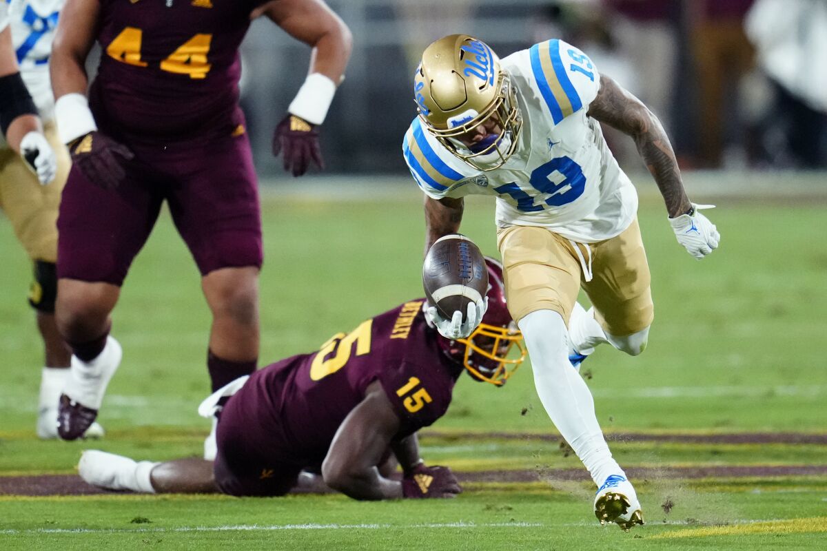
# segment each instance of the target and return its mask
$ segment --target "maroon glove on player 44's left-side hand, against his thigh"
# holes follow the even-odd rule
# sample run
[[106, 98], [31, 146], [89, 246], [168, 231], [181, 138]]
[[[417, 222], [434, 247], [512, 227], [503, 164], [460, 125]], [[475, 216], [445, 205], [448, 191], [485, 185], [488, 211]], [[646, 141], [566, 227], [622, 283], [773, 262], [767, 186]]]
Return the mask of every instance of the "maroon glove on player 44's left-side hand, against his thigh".
[[89, 182], [103, 189], [117, 188], [127, 173], [123, 163], [135, 155], [126, 145], [98, 131], [89, 132], [69, 144], [72, 164]]

